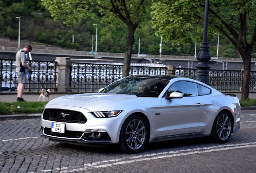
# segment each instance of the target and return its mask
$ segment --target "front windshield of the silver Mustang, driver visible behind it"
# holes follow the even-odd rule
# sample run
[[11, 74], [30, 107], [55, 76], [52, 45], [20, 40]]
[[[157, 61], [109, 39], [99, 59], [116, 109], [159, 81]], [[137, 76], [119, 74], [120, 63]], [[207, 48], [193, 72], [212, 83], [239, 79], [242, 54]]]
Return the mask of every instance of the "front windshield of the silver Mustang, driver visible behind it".
[[158, 97], [168, 83], [169, 80], [159, 78], [122, 78], [105, 87], [100, 93]]

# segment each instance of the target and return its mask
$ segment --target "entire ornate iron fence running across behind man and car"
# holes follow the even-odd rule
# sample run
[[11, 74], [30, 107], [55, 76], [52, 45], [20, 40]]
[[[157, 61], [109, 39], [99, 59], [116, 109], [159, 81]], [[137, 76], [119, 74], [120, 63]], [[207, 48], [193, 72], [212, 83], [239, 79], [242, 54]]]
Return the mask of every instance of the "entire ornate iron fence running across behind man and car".
[[[25, 91], [40, 91], [53, 89], [57, 91], [56, 68], [53, 61], [28, 61], [33, 74], [28, 78]], [[122, 78], [122, 64], [93, 64], [73, 62], [70, 67], [69, 84], [71, 91], [98, 91]], [[196, 77], [197, 69], [176, 68], [176, 76]], [[166, 74], [163, 66], [130, 66], [130, 75], [136, 74]], [[60, 74], [61, 75], [61, 74]], [[209, 70], [209, 85], [222, 92], [240, 92], [243, 82], [242, 70]], [[0, 91], [16, 91], [18, 84], [15, 73], [15, 60], [0, 59]], [[250, 91], [256, 91], [256, 72], [250, 76]]]

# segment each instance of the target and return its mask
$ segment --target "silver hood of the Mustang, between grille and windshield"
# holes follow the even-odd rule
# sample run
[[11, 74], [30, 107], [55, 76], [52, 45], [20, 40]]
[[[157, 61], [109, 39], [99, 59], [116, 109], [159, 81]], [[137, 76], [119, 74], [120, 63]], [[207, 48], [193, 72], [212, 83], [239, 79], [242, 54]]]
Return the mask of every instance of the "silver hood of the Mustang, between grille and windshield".
[[[81, 107], [89, 111], [107, 111], [116, 105], [139, 99], [136, 95], [87, 93], [62, 96], [47, 103], [47, 107], [53, 105]], [[145, 99], [142, 97], [140, 99]]]

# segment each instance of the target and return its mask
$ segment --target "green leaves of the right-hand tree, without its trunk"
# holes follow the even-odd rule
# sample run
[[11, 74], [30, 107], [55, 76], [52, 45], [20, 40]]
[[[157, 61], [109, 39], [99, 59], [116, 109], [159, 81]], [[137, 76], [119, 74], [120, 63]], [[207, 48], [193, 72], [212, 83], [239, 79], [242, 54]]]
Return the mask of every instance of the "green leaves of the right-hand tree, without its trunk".
[[[200, 42], [202, 40], [204, 1], [155, 0], [153, 2], [151, 23], [153, 28], [157, 30], [157, 35], [163, 36], [165, 41], [169, 40], [178, 44], [192, 44], [195, 41]], [[244, 35], [242, 35], [245, 36], [245, 38], [242, 38], [243, 40], [238, 38], [239, 28], [241, 27], [239, 26], [241, 24], [239, 15], [241, 13], [247, 15], [247, 20], [244, 21], [247, 28]], [[239, 48], [241, 46], [239, 44], [242, 44], [242, 41], [250, 41], [252, 39], [256, 23], [255, 16], [255, 1], [211, 0], [209, 3], [208, 19], [209, 42], [211, 42], [211, 36], [214, 33], [219, 33], [223, 41], [227, 40], [227, 38], [229, 39], [227, 45], [232, 43]], [[225, 40], [223, 37], [225, 37]], [[223, 48], [224, 50], [226, 49]], [[230, 50], [228, 52], [227, 57], [237, 57], [237, 54], [230, 54], [232, 53]], [[223, 55], [226, 56], [227, 54]]]

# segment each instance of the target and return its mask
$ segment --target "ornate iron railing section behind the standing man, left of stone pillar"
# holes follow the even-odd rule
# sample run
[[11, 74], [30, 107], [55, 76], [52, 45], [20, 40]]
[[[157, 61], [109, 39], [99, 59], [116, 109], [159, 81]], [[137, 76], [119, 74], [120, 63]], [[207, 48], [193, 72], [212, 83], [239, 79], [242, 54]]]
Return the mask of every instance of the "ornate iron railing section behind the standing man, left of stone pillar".
[[[27, 78], [25, 91], [56, 89], [56, 62], [28, 61], [33, 73]], [[18, 77], [15, 72], [15, 60], [0, 59], [0, 91], [15, 91]]]

